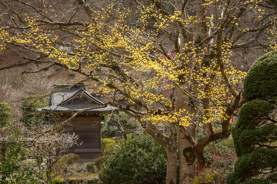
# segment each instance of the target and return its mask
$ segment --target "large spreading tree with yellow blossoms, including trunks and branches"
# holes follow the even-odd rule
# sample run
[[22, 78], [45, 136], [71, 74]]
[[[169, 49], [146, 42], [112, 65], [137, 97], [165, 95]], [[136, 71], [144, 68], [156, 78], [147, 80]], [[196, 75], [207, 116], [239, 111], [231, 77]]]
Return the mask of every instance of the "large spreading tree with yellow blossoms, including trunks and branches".
[[[24, 72], [35, 73], [57, 65], [93, 81], [103, 95], [125, 96], [126, 106], [115, 99], [109, 104], [139, 121], [165, 148], [166, 183], [176, 183], [177, 134], [180, 183], [205, 166], [208, 143], [230, 135], [230, 120], [243, 104], [246, 70], [239, 61], [245, 57], [239, 55], [276, 49], [277, 15], [267, 1], [134, 0], [132, 6], [115, 1], [92, 8], [76, 0], [66, 9], [49, 2], [40, 1], [41, 8], [35, 1], [0, 3], [6, 18], [1, 51], [31, 53], [0, 70], [42, 63], [40, 70]], [[155, 127], [161, 123], [169, 124], [169, 136]], [[198, 141], [196, 131], [203, 135]]]

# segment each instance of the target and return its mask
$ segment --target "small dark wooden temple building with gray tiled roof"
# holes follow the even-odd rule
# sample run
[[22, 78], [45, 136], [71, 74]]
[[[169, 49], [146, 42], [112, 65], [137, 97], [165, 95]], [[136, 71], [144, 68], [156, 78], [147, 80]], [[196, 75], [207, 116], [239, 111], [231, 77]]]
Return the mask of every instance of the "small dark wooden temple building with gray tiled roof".
[[[104, 105], [91, 96], [83, 83], [79, 85], [54, 85], [49, 106], [39, 108], [42, 114], [55, 114], [60, 120], [66, 120], [72, 113], [83, 111], [85, 108]], [[78, 135], [78, 144], [73, 145], [65, 154], [77, 154], [84, 162], [94, 162], [101, 156], [101, 118], [105, 113], [117, 111], [116, 107], [107, 106], [81, 112], [63, 130]], [[82, 143], [82, 144], [80, 144]]]

